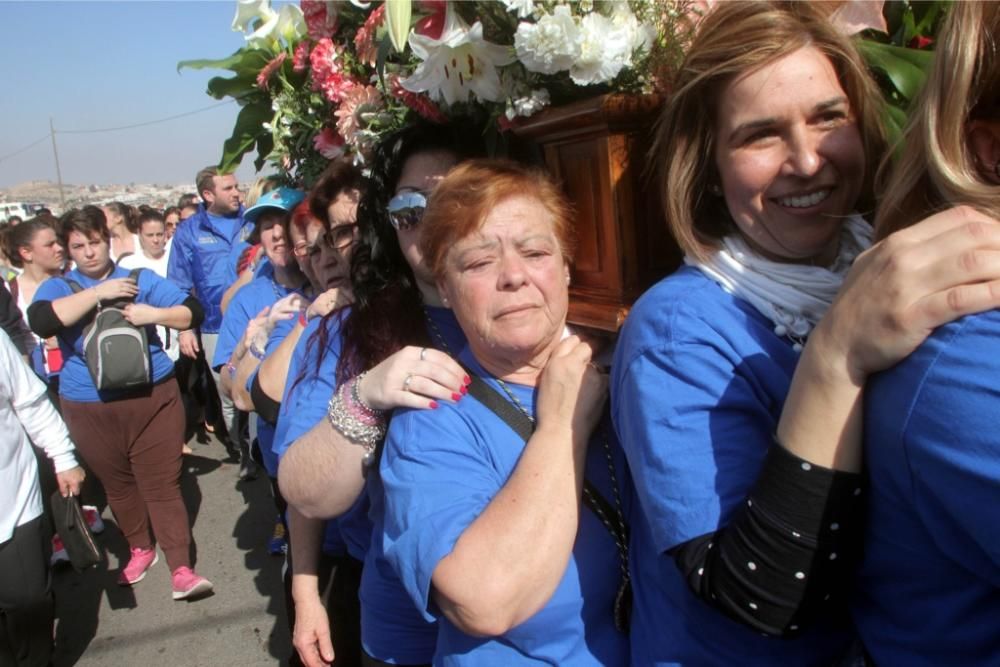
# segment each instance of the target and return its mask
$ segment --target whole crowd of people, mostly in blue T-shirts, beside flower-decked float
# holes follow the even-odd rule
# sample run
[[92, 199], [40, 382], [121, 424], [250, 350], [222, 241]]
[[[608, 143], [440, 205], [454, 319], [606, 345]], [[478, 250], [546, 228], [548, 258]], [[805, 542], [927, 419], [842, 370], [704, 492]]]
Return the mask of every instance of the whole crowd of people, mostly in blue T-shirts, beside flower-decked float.
[[[195, 599], [206, 419], [271, 481], [291, 664], [996, 664], [998, 36], [1000, 5], [949, 8], [897, 151], [822, 12], [715, 7], [650, 149], [684, 266], [612, 347], [567, 324], [558, 182], [461, 123], [308, 191], [208, 168], [193, 210], [10, 227], [3, 664], [51, 651], [28, 438], [64, 494], [74, 444], [104, 485], [119, 583], [159, 547]], [[88, 343], [115, 309], [125, 387]]]

